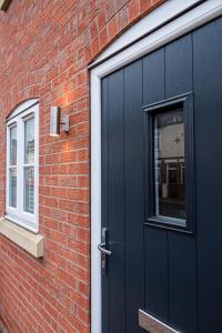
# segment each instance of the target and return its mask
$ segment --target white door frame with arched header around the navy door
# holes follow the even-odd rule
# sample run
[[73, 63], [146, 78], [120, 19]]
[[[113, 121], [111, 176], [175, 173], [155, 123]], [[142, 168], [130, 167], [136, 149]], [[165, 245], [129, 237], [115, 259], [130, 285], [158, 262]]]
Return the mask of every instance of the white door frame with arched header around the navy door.
[[[199, 3], [200, 2], [200, 3]], [[198, 7], [192, 7], [199, 4]], [[191, 8], [189, 11], [188, 9]], [[186, 11], [185, 11], [186, 9]], [[181, 16], [179, 16], [181, 13]], [[101, 333], [101, 80], [222, 14], [222, 0], [169, 0], [130, 28], [89, 67], [91, 85], [91, 332]], [[175, 19], [173, 19], [175, 18]], [[173, 19], [173, 20], [172, 20]], [[165, 24], [164, 24], [165, 22]], [[158, 27], [162, 28], [158, 29]], [[163, 26], [164, 24], [164, 26]], [[158, 29], [158, 30], [155, 30]], [[149, 31], [153, 31], [150, 34]], [[147, 37], [140, 39], [147, 34]], [[133, 41], [135, 41], [133, 43]], [[129, 47], [128, 47], [129, 46]], [[124, 47], [124, 49], [123, 49]], [[120, 51], [120, 52], [118, 52]], [[112, 57], [113, 54], [113, 57]]]

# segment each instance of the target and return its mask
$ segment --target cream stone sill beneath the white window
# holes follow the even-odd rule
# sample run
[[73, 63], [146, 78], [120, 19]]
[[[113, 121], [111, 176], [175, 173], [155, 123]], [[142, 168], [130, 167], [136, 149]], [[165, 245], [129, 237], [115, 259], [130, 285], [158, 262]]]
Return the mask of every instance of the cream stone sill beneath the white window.
[[0, 234], [32, 254], [34, 258], [43, 256], [43, 236], [34, 234], [9, 220], [0, 219]]

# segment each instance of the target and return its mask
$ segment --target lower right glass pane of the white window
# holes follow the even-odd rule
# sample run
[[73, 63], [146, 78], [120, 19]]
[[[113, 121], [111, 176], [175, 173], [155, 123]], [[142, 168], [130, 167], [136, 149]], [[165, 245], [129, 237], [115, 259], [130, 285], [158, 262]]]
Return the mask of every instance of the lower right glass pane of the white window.
[[34, 168], [24, 168], [24, 211], [34, 212]]

